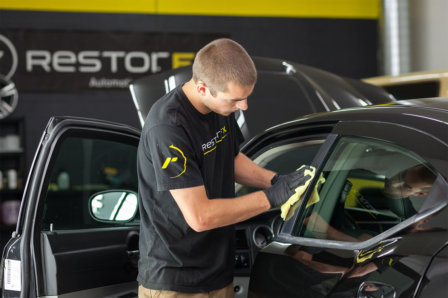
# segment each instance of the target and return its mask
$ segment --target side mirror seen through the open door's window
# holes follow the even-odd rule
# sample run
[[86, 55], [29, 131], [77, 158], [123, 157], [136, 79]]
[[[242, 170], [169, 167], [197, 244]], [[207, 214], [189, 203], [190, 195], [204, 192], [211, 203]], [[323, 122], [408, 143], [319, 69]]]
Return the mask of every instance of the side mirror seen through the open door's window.
[[127, 222], [138, 207], [137, 193], [131, 190], [107, 190], [89, 199], [90, 215], [100, 222]]

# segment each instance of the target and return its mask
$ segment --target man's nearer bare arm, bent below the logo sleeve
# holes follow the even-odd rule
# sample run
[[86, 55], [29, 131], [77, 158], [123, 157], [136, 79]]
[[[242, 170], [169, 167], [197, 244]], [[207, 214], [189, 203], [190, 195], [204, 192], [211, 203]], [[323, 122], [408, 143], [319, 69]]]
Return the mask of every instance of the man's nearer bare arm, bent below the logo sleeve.
[[170, 190], [188, 225], [197, 232], [224, 227], [271, 208], [262, 191], [233, 199], [207, 198], [205, 187]]

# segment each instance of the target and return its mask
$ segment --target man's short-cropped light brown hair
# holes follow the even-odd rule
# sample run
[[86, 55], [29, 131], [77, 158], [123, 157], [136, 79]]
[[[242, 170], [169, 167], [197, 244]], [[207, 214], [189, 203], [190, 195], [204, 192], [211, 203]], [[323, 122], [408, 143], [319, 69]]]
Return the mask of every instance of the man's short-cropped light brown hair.
[[228, 83], [250, 88], [257, 82], [257, 70], [246, 50], [228, 38], [216, 39], [198, 51], [193, 63], [193, 80], [207, 85], [213, 97], [227, 92]]

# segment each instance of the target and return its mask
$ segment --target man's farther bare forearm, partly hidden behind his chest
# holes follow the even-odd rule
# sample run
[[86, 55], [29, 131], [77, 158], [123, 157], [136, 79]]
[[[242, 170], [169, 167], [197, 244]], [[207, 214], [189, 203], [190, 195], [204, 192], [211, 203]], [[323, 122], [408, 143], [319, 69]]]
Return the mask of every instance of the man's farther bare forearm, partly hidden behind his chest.
[[239, 184], [267, 189], [271, 186], [271, 179], [275, 174], [258, 166], [241, 152], [235, 156], [235, 182]]

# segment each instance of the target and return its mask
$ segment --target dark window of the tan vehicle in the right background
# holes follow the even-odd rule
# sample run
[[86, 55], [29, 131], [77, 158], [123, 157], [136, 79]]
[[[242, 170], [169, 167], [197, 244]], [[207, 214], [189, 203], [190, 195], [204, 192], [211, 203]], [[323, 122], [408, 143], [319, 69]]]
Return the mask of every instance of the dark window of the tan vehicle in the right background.
[[439, 83], [428, 82], [418, 84], [403, 84], [384, 87], [397, 101], [415, 98], [439, 97]]

